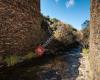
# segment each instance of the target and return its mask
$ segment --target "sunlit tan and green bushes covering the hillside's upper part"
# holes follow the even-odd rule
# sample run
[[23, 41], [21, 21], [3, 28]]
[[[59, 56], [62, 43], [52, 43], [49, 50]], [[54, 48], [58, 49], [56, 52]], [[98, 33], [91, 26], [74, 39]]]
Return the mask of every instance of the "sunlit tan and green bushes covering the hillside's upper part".
[[[59, 30], [63, 27], [63, 30]], [[51, 32], [55, 39], [64, 43], [66, 46], [80, 41], [80, 32], [70, 24], [65, 24], [56, 18], [43, 16], [42, 28], [47, 32]]]

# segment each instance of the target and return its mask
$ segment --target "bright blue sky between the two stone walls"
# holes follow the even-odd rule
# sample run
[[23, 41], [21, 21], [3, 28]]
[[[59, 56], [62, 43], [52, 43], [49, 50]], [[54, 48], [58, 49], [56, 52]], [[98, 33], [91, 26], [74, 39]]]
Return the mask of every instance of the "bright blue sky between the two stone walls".
[[90, 0], [41, 0], [41, 13], [81, 29], [90, 19]]

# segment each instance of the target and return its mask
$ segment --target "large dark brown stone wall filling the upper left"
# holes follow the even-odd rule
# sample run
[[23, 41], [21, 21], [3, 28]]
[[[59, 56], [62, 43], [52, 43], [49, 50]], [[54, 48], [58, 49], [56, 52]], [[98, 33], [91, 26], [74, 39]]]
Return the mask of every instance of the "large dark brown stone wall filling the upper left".
[[0, 0], [0, 54], [24, 53], [43, 40], [40, 0]]

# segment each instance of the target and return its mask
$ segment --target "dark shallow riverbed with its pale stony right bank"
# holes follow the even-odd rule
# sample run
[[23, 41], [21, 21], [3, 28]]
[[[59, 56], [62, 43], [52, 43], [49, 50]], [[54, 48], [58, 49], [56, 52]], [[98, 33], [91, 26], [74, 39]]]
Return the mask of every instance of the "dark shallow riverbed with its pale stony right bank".
[[79, 48], [62, 54], [46, 55], [0, 70], [0, 80], [89, 80], [86, 59]]

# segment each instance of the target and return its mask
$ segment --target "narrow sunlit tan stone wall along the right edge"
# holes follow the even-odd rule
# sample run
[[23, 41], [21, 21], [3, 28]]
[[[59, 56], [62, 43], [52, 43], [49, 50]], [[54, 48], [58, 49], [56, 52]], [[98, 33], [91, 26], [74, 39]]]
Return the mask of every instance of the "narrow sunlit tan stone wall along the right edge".
[[100, 80], [100, 0], [91, 0], [90, 54], [92, 79]]

